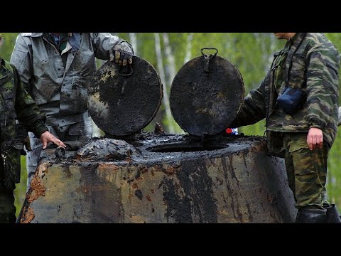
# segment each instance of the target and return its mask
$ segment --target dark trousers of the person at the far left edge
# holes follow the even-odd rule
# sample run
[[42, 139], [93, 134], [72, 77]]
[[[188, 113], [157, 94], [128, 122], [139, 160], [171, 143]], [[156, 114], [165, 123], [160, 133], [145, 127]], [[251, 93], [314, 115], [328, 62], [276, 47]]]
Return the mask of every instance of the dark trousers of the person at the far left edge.
[[0, 183], [0, 223], [16, 223], [14, 188], [4, 188]]

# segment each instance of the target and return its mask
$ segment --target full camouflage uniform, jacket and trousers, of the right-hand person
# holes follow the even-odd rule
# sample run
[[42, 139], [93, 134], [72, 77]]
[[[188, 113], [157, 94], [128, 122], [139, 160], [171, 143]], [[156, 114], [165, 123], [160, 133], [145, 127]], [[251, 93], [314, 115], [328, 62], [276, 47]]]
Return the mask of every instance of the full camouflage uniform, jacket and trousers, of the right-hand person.
[[[269, 154], [284, 157], [296, 208], [324, 209], [328, 152], [337, 132], [339, 61], [337, 49], [321, 33], [296, 33], [274, 54], [269, 73], [244, 98], [231, 127], [266, 118]], [[286, 89], [303, 90], [301, 108], [286, 114], [276, 104]], [[308, 130], [323, 131], [323, 148], [309, 150]]]

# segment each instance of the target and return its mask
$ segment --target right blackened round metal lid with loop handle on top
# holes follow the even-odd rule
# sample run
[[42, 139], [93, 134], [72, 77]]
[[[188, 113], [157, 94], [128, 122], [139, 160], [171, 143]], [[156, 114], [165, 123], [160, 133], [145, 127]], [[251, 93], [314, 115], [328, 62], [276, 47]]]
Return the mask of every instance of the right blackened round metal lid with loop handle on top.
[[171, 85], [171, 112], [189, 134], [202, 136], [222, 132], [237, 116], [244, 99], [244, 82], [228, 60], [211, 58], [205, 72], [200, 56], [180, 68]]

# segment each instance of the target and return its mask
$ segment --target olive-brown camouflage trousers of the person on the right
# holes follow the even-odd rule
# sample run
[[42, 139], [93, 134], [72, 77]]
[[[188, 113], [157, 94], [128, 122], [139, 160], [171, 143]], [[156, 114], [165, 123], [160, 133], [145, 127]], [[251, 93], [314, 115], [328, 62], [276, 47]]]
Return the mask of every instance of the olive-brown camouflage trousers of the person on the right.
[[330, 146], [309, 150], [307, 133], [282, 133], [284, 159], [289, 187], [293, 191], [296, 208], [329, 206], [325, 183]]

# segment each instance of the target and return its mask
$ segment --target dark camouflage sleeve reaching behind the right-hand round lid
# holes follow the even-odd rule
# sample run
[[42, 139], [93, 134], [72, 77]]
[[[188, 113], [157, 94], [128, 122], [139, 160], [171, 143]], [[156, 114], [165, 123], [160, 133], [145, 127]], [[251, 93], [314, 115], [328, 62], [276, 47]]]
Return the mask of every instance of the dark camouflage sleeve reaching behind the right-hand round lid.
[[232, 124], [229, 124], [229, 127], [242, 127], [255, 124], [266, 117], [266, 102], [264, 97], [265, 81], [266, 78], [264, 78], [258, 88], [251, 90], [247, 97], [244, 98], [237, 117], [233, 120]]

